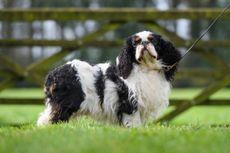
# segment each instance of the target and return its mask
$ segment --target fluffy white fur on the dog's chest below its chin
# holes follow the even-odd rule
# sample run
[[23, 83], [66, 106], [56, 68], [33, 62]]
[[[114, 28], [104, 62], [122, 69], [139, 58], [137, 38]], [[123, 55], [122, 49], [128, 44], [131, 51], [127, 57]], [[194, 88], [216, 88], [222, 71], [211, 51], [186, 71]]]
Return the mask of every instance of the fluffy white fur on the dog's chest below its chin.
[[134, 65], [126, 83], [138, 97], [138, 109], [143, 123], [149, 117], [157, 118], [159, 113], [168, 106], [170, 83], [162, 72]]

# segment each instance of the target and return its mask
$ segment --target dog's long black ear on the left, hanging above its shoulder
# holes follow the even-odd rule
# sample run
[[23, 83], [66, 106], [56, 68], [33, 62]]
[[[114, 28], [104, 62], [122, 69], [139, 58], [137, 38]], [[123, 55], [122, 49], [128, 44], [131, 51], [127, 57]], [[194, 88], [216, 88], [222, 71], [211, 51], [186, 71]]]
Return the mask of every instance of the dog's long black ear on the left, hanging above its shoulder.
[[121, 53], [117, 57], [118, 74], [126, 79], [133, 68], [135, 60], [135, 51], [132, 43], [132, 37], [127, 38]]

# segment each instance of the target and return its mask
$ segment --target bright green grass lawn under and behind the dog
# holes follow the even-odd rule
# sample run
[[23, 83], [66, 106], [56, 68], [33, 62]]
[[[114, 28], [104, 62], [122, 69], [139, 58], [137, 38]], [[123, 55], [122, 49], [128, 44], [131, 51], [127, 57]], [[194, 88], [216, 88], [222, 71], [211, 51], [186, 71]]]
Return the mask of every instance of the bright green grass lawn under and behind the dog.
[[[229, 91], [222, 90], [212, 98], [229, 98]], [[198, 92], [198, 89], [177, 89], [172, 97], [192, 98]], [[37, 89], [0, 93], [0, 97], [12, 96], [43, 95]], [[169, 124], [149, 123], [138, 129], [105, 125], [87, 117], [69, 124], [37, 128], [35, 122], [42, 109], [43, 106], [0, 105], [0, 153], [230, 152], [228, 106], [194, 107]]]

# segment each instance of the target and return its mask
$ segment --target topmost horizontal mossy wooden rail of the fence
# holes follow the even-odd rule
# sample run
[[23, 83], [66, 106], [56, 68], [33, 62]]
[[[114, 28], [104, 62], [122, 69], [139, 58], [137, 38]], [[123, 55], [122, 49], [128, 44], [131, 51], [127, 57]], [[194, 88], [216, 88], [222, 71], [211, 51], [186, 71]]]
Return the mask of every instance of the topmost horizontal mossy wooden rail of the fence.
[[[0, 20], [2, 21], [85, 21], [85, 20], [110, 20], [110, 21], [152, 21], [174, 19], [214, 19], [221, 9], [186, 9], [160, 11], [152, 8], [34, 8], [34, 9], [1, 9]], [[223, 19], [230, 19], [227, 12]]]

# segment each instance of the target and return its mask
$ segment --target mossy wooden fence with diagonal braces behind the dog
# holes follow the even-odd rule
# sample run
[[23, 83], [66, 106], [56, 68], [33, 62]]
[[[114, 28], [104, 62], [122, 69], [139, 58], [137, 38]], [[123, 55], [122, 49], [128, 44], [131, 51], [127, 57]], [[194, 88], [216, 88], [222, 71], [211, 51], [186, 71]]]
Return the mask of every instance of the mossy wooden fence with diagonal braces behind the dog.
[[[221, 9], [188, 9], [188, 10], [167, 10], [159, 11], [155, 9], [134, 9], [134, 8], [104, 8], [104, 9], [82, 9], [82, 8], [58, 8], [58, 9], [1, 9], [0, 21], [7, 22], [33, 22], [36, 20], [55, 20], [55, 21], [85, 21], [85, 20], [102, 20], [106, 24], [96, 31], [83, 36], [78, 40], [31, 40], [31, 39], [0, 39], [0, 45], [10, 46], [59, 46], [62, 49], [52, 56], [35, 62], [28, 67], [22, 67], [15, 63], [9, 57], [0, 54], [0, 64], [4, 69], [0, 69], [0, 76], [5, 79], [0, 83], [0, 91], [13, 86], [15, 83], [27, 80], [40, 86], [43, 84], [44, 75], [47, 70], [56, 62], [75, 49], [85, 46], [121, 46], [123, 40], [97, 40], [97, 36], [102, 36], [108, 31], [113, 31], [127, 22], [142, 23], [146, 29], [160, 33], [174, 42], [177, 47], [189, 47], [193, 40], [185, 40], [176, 33], [171, 32], [160, 26], [156, 20], [211, 20], [214, 19]], [[230, 20], [230, 11], [226, 12], [222, 18]], [[221, 58], [213, 55], [208, 51], [210, 47], [230, 47], [230, 40], [209, 40], [201, 41], [193, 49], [193, 52], [212, 64], [213, 69], [193, 69], [180, 70], [178, 77], [212, 77], [216, 81], [205, 87], [196, 97], [191, 100], [171, 99], [171, 104], [175, 105], [174, 110], [160, 118], [158, 121], [171, 120], [180, 113], [188, 110], [195, 105], [229, 105], [229, 100], [211, 100], [210, 96], [226, 87], [230, 83], [229, 64]], [[17, 99], [17, 98], [0, 98], [0, 104], [41, 104], [42, 99]]]

